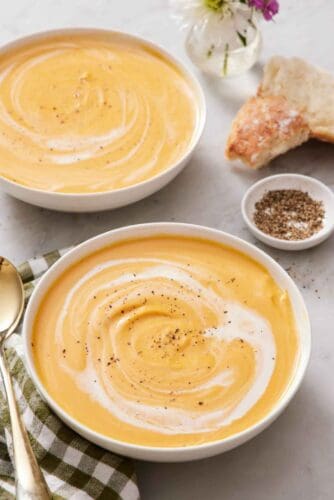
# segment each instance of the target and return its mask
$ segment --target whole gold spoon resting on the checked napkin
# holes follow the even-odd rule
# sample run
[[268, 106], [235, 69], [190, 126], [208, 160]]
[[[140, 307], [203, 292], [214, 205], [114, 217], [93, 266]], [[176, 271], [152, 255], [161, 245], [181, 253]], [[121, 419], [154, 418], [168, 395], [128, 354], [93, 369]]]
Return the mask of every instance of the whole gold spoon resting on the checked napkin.
[[32, 451], [26, 429], [15, 401], [12, 379], [4, 353], [4, 343], [18, 325], [24, 307], [24, 290], [16, 268], [0, 257], [0, 371], [7, 395], [12, 428], [16, 498], [50, 499], [51, 495]]

